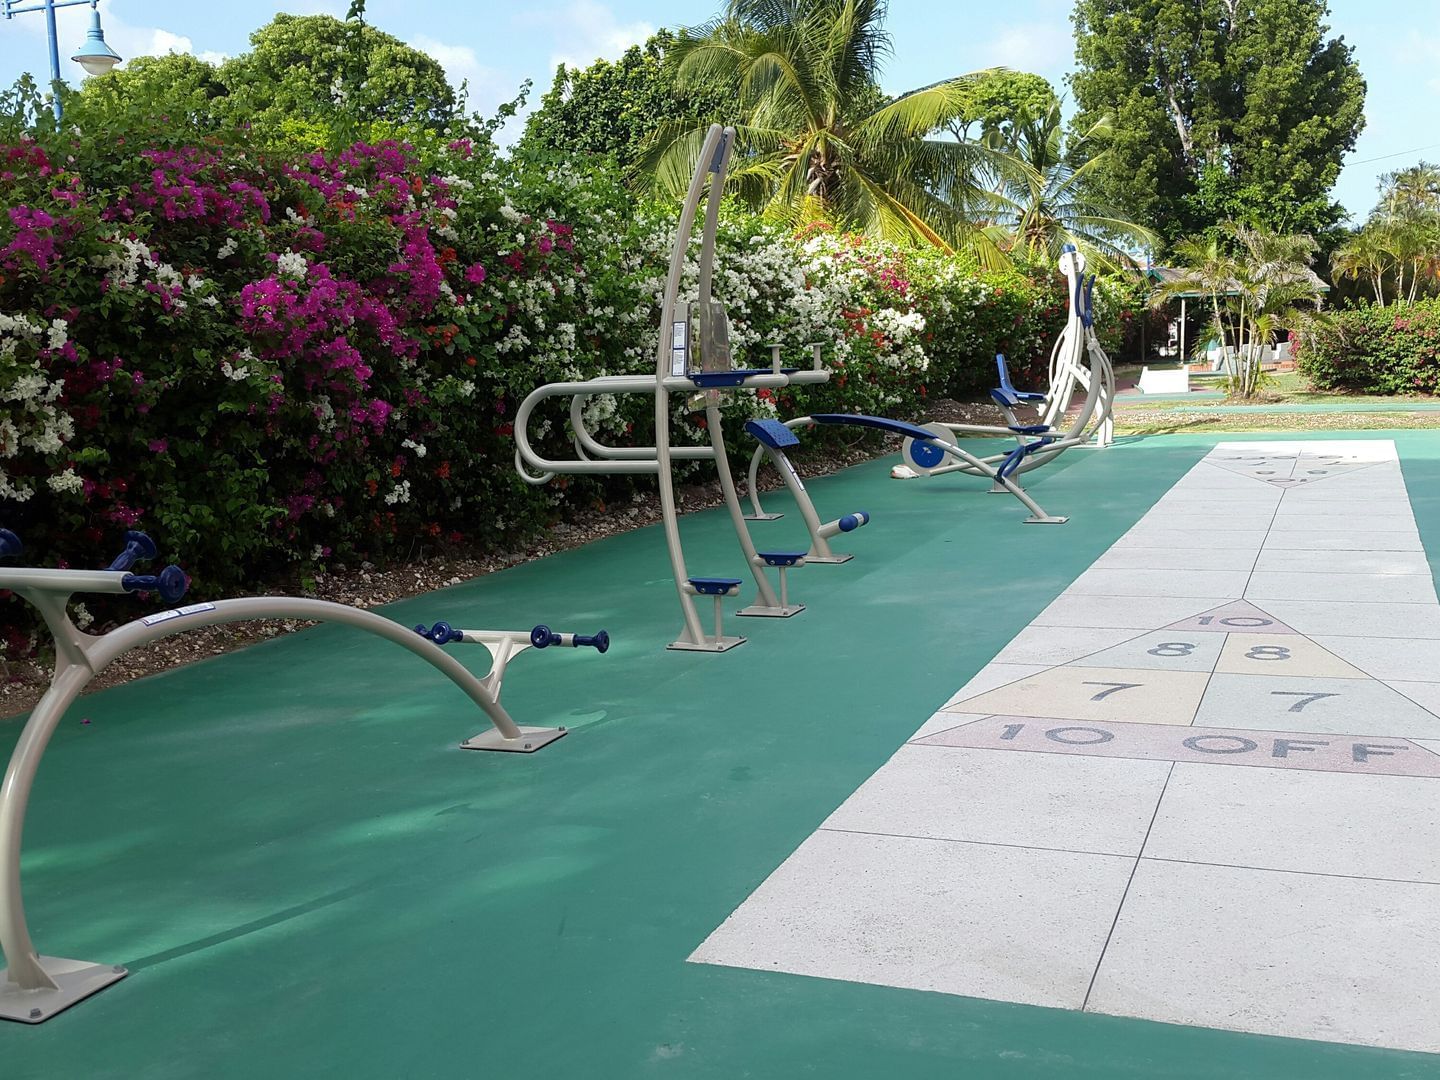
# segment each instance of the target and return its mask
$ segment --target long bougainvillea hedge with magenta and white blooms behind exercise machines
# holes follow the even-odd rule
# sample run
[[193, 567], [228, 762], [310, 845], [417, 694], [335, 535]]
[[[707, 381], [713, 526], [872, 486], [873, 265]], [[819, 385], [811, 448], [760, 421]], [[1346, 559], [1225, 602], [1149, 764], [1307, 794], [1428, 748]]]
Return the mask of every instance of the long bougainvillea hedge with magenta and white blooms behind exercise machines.
[[[204, 596], [510, 541], [632, 482], [536, 488], [513, 468], [537, 384], [654, 366], [674, 210], [600, 166], [507, 163], [471, 138], [295, 157], [69, 132], [3, 140], [0, 181], [0, 524], [35, 562], [95, 566], [143, 527]], [[737, 419], [920, 416], [988, 384], [996, 350], [1043, 366], [1063, 318], [1053, 275], [723, 220], [740, 361], [780, 340], [808, 363], [821, 341], [835, 370]], [[596, 396], [586, 416], [648, 444], [651, 409]], [[536, 431], [569, 454], [563, 412]]]

